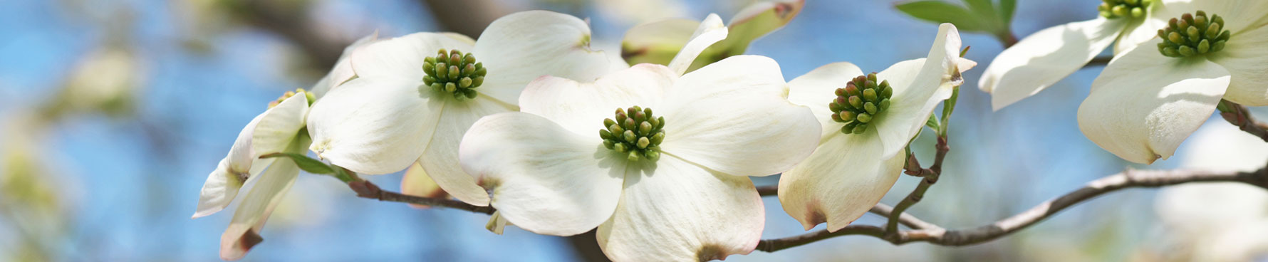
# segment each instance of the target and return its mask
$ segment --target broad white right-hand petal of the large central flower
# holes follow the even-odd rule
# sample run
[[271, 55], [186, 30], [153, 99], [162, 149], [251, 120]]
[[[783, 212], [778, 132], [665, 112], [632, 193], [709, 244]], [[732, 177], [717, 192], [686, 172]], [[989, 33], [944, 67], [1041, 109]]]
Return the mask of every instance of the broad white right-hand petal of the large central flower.
[[737, 176], [792, 168], [819, 142], [810, 109], [787, 101], [773, 59], [733, 56], [682, 76], [664, 101], [664, 153]]

